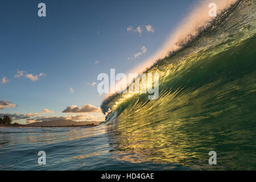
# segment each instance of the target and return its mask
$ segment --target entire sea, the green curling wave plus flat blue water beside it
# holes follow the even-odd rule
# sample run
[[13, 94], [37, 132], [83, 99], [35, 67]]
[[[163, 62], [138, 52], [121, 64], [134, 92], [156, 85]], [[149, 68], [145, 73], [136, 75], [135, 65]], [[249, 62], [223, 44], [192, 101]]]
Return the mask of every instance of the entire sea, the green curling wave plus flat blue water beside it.
[[255, 4], [237, 1], [148, 69], [157, 100], [115, 94], [92, 128], [0, 128], [0, 169], [256, 170]]

